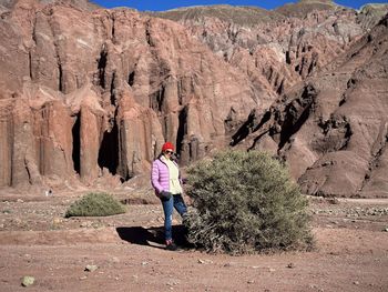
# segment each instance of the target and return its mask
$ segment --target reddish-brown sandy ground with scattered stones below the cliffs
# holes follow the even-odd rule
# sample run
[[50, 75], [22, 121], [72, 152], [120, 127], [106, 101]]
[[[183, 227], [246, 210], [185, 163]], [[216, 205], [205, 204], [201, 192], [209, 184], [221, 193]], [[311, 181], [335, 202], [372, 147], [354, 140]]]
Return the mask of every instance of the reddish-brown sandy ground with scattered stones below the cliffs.
[[229, 256], [165, 251], [150, 194], [125, 214], [64, 219], [79, 195], [0, 194], [1, 292], [388, 291], [388, 200], [310, 199], [315, 251]]

